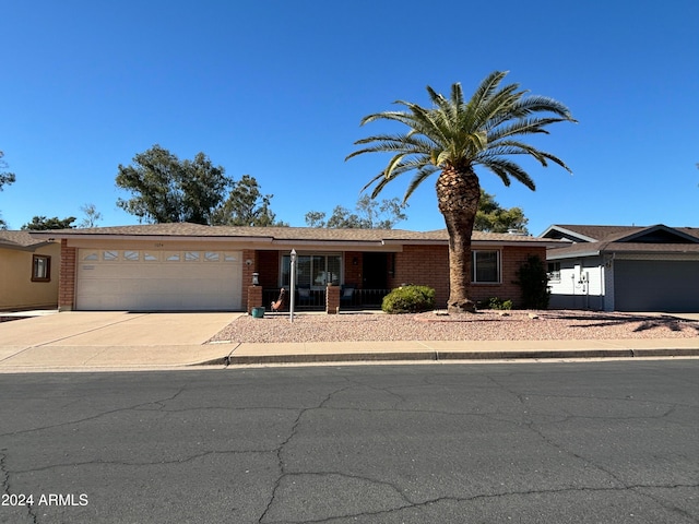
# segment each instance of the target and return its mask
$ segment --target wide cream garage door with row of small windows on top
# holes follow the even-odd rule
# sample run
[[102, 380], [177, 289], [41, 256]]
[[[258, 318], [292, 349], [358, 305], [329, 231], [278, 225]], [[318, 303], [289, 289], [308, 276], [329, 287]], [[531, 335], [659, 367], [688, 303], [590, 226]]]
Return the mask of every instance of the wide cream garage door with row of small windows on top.
[[79, 310], [239, 310], [239, 251], [80, 249]]

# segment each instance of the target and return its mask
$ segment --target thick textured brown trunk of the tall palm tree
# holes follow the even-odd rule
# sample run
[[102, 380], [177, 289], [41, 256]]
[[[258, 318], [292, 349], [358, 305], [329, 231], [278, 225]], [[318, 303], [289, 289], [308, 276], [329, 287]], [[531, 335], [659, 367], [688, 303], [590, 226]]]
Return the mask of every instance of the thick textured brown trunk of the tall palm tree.
[[478, 211], [481, 184], [473, 169], [447, 168], [437, 179], [439, 211], [449, 231], [450, 313], [473, 313], [476, 305], [469, 298], [471, 287], [471, 234]]

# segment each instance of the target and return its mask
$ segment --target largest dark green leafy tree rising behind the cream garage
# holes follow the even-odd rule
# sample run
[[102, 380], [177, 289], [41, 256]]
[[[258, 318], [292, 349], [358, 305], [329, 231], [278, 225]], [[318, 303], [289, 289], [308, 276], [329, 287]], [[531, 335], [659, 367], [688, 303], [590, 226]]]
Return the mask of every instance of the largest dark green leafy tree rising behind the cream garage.
[[133, 198], [119, 199], [117, 205], [141, 221], [209, 224], [232, 183], [224, 168], [214, 166], [203, 153], [193, 160], [180, 160], [155, 144], [135, 155], [133, 163], [119, 165], [116, 178], [117, 186]]

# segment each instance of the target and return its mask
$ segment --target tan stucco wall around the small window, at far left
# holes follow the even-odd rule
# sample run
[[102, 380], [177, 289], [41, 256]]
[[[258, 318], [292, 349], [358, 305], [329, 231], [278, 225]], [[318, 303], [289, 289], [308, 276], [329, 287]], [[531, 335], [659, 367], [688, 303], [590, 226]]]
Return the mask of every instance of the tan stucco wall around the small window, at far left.
[[[34, 254], [51, 258], [49, 282], [32, 282]], [[56, 308], [60, 254], [58, 243], [37, 248], [33, 252], [0, 249], [0, 310]]]

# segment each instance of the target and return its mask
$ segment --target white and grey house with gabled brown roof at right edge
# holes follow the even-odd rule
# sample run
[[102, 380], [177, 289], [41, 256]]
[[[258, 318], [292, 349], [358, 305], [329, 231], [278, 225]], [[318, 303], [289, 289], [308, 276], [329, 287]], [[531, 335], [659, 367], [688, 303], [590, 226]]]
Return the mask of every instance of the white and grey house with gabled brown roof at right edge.
[[699, 228], [554, 225], [549, 249], [555, 309], [699, 311]]

